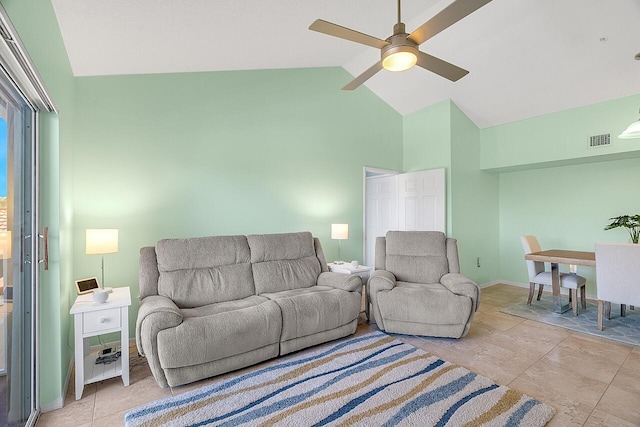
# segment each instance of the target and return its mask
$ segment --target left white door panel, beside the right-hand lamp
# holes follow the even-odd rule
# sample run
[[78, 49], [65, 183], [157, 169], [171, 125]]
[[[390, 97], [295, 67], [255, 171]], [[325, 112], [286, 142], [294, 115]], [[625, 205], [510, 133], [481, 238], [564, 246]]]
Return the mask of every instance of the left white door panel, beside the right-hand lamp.
[[397, 175], [366, 179], [365, 265], [374, 266], [376, 237], [398, 228]]

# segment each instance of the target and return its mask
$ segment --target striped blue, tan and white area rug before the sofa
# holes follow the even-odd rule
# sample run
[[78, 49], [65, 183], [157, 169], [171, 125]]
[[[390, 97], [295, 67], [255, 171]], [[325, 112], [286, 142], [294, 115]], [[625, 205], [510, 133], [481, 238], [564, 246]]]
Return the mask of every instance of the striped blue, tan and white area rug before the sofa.
[[543, 426], [555, 410], [381, 332], [134, 409], [133, 426]]

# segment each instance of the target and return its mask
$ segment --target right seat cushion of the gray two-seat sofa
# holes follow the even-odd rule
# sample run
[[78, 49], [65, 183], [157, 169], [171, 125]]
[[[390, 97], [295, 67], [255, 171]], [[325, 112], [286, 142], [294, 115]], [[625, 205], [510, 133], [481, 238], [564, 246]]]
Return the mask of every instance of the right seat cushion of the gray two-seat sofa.
[[313, 335], [352, 322], [360, 314], [361, 294], [328, 286], [262, 294], [282, 312], [281, 341]]

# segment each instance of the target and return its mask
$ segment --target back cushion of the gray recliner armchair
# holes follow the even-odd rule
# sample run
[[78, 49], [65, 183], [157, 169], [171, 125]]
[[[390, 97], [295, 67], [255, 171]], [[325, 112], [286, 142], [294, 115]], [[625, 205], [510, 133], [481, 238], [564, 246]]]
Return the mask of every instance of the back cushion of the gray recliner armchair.
[[385, 269], [397, 280], [440, 283], [449, 272], [446, 236], [440, 231], [389, 231]]

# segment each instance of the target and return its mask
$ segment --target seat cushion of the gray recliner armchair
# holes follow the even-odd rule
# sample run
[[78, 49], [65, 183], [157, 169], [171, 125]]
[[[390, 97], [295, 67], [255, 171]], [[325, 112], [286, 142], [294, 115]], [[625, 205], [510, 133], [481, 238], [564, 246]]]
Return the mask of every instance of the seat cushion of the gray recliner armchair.
[[465, 324], [473, 313], [473, 301], [456, 295], [439, 283], [397, 282], [377, 294], [383, 319], [431, 325]]

